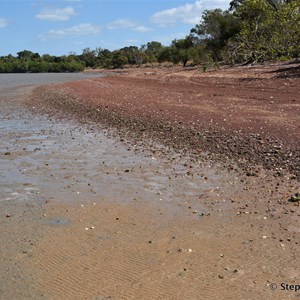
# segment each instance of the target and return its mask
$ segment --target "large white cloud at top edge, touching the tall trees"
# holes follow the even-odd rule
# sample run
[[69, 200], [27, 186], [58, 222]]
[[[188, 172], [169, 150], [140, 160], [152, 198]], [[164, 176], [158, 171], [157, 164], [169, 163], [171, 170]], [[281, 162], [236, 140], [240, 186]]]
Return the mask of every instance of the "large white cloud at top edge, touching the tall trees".
[[163, 26], [173, 25], [176, 23], [197, 24], [205, 9], [221, 8], [227, 9], [228, 0], [198, 0], [194, 3], [159, 11], [151, 16], [151, 21]]

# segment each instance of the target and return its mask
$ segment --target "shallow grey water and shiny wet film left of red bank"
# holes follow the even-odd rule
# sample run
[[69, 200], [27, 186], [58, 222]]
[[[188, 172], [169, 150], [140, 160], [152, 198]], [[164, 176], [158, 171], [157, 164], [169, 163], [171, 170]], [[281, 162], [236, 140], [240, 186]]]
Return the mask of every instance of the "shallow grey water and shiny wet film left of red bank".
[[[210, 168], [199, 166], [193, 169], [193, 176], [188, 176], [191, 170], [180, 155], [168, 160], [161, 158], [159, 151], [153, 155], [144, 149], [145, 155], [94, 125], [33, 114], [23, 103], [22, 94], [28, 90], [24, 86], [54, 82], [54, 75], [59, 81], [80, 77], [1, 76], [5, 79], [0, 85], [1, 201], [100, 198], [168, 205], [195, 201], [219, 185], [220, 177]], [[12, 78], [16, 81], [10, 81]], [[209, 179], [203, 179], [202, 173]]]

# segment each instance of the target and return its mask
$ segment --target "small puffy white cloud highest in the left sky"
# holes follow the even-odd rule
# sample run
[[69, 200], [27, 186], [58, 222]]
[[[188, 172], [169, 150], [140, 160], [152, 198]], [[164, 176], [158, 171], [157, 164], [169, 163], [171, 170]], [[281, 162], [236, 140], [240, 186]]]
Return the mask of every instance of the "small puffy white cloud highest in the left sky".
[[76, 15], [75, 9], [72, 6], [67, 6], [65, 8], [45, 8], [35, 17], [44, 21], [68, 21]]

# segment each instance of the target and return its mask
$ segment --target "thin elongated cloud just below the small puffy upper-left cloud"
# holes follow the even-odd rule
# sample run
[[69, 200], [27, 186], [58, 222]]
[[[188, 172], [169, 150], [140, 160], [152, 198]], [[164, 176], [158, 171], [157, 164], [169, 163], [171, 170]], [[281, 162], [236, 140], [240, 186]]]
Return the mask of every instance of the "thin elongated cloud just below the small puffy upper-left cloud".
[[60, 39], [67, 36], [98, 35], [100, 31], [100, 26], [92, 25], [90, 23], [81, 23], [69, 28], [52, 29], [38, 37], [40, 40], [46, 41], [50, 39]]

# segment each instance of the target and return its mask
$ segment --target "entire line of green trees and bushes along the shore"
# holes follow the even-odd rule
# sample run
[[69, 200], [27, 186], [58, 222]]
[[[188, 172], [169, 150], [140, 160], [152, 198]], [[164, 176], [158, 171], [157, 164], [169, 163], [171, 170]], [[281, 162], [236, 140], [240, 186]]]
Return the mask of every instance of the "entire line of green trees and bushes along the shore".
[[233, 0], [228, 10], [206, 10], [184, 39], [164, 46], [152, 41], [140, 48], [85, 48], [82, 54], [40, 56], [24, 50], [0, 57], [1, 73], [78, 72], [85, 68], [172, 63], [253, 64], [289, 60], [300, 54], [300, 0]]

